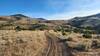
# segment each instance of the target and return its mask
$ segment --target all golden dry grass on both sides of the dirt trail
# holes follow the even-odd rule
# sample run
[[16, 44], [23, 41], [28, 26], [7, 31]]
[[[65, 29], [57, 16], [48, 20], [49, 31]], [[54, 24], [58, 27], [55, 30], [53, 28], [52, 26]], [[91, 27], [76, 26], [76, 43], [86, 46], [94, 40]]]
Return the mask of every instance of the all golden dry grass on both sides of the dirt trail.
[[[49, 32], [58, 37], [61, 36], [61, 32], [53, 30]], [[72, 38], [72, 41], [67, 41], [70, 47], [75, 47], [78, 44], [91, 45], [91, 39], [83, 38], [79, 33], [67, 33], [65, 39], [68, 37]], [[99, 39], [98, 42], [100, 42]], [[46, 43], [45, 31], [0, 30], [0, 56], [41, 56], [44, 47], [47, 46]], [[96, 51], [98, 52], [100, 49], [96, 49]], [[93, 54], [93, 52], [91, 53]], [[88, 52], [74, 54], [76, 56], [90, 55]]]

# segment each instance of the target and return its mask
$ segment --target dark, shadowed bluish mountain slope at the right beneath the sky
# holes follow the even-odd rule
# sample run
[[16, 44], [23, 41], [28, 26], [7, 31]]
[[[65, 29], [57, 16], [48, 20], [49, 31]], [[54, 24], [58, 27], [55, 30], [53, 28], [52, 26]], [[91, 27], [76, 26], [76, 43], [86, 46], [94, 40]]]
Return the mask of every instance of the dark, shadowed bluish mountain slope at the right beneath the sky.
[[85, 17], [75, 17], [69, 20], [69, 23], [75, 27], [92, 27], [94, 29], [100, 27], [100, 14], [85, 16]]

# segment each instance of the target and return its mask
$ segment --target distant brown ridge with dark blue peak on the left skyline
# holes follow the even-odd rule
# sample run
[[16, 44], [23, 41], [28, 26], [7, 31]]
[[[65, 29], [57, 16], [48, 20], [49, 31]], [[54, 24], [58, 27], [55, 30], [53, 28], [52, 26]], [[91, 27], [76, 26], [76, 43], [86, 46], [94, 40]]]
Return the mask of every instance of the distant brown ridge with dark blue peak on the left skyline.
[[0, 24], [5, 22], [30, 22], [30, 21], [39, 21], [45, 20], [44, 18], [31, 18], [22, 14], [14, 14], [9, 16], [0, 16]]

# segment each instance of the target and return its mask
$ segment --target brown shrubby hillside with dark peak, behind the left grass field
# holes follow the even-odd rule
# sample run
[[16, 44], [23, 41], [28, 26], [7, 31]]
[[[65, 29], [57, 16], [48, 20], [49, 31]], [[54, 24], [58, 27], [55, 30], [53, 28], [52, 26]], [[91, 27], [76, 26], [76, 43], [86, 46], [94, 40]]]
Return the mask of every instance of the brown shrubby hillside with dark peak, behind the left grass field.
[[0, 29], [13, 30], [19, 26], [23, 30], [53, 29], [58, 25], [66, 24], [64, 20], [46, 20], [44, 18], [31, 18], [22, 14], [0, 16]]

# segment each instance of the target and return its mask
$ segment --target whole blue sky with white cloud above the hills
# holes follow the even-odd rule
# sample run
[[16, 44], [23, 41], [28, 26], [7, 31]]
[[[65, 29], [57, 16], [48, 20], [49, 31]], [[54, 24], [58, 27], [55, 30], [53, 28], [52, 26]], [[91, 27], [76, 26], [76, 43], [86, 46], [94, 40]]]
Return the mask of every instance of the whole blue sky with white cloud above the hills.
[[68, 20], [100, 13], [100, 0], [0, 0], [0, 16], [24, 14], [49, 20]]

